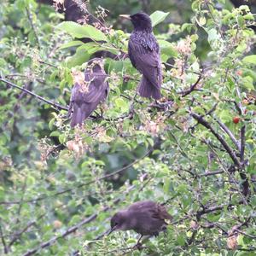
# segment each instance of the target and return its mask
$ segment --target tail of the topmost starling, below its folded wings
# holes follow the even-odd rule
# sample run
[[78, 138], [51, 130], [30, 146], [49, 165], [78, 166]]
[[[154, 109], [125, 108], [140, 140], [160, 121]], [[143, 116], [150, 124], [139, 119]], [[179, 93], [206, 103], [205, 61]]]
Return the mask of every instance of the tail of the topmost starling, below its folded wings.
[[152, 97], [155, 100], [159, 100], [161, 98], [160, 88], [157, 88], [154, 86], [154, 84], [151, 84], [144, 75], [139, 84], [138, 92], [142, 97]]

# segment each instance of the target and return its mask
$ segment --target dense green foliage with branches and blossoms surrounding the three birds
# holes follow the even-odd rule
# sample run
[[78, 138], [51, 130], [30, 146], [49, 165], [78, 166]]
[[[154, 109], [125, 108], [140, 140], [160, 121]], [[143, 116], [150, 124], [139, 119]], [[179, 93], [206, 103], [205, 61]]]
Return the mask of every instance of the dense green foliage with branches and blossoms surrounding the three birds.
[[[159, 105], [136, 95], [131, 25], [116, 14], [125, 2], [126, 10], [141, 6], [107, 2], [111, 18], [105, 1], [76, 1], [98, 15], [90, 25], [86, 15], [63, 21], [34, 0], [1, 3], [1, 254], [255, 255], [254, 15], [245, 5], [195, 0], [174, 24], [172, 7], [155, 3]], [[108, 101], [71, 129], [73, 79], [102, 50]], [[133, 231], [104, 236], [114, 212], [146, 199], [166, 202], [174, 217], [166, 234], [140, 251]]]

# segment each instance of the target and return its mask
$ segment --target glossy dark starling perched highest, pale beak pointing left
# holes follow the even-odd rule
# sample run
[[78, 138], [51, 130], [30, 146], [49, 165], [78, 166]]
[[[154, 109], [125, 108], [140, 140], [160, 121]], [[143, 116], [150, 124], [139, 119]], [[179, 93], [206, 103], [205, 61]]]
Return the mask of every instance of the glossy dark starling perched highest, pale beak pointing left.
[[133, 67], [143, 73], [138, 92], [143, 97], [160, 99], [162, 83], [160, 47], [154, 38], [150, 17], [139, 12], [135, 15], [120, 15], [131, 20], [134, 30], [128, 44], [128, 54]]

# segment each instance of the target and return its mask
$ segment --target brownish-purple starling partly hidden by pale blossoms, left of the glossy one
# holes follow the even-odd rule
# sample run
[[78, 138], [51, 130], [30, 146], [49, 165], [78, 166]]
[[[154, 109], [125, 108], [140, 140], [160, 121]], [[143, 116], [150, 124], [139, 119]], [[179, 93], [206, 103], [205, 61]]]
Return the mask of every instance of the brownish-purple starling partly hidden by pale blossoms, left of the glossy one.
[[88, 61], [84, 71], [84, 83], [75, 83], [71, 93], [69, 113], [72, 113], [71, 126], [81, 125], [90, 116], [100, 102], [108, 96], [107, 74], [102, 59]]

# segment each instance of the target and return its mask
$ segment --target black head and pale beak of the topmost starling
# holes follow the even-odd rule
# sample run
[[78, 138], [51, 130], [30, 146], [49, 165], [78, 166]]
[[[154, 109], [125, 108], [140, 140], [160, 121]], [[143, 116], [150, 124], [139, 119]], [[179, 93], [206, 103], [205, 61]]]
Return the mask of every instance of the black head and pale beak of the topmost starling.
[[132, 25], [135, 30], [143, 31], [147, 30], [148, 32], [152, 32], [152, 22], [150, 17], [143, 13], [139, 12], [135, 15], [120, 15], [121, 17], [131, 20]]

